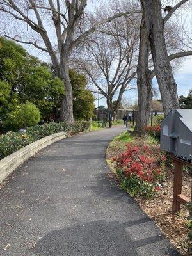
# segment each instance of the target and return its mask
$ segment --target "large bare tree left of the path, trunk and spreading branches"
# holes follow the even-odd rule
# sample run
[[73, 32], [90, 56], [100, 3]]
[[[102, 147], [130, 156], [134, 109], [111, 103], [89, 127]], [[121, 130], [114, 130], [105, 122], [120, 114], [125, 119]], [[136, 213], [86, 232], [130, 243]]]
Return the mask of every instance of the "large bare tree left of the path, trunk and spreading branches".
[[33, 45], [49, 54], [56, 74], [65, 84], [60, 120], [73, 122], [72, 86], [69, 61], [72, 50], [104, 22], [138, 11], [120, 13], [81, 29], [87, 0], [1, 0], [1, 34], [20, 43]]

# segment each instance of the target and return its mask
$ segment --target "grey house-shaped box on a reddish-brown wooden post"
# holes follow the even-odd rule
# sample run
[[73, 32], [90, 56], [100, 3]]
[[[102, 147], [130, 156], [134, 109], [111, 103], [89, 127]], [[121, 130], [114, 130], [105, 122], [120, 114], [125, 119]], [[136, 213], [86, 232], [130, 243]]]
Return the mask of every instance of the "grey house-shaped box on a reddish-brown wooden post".
[[192, 200], [182, 195], [183, 165], [192, 166], [192, 110], [172, 110], [161, 122], [161, 149], [173, 154], [175, 163], [173, 182], [173, 213], [180, 211], [180, 204]]

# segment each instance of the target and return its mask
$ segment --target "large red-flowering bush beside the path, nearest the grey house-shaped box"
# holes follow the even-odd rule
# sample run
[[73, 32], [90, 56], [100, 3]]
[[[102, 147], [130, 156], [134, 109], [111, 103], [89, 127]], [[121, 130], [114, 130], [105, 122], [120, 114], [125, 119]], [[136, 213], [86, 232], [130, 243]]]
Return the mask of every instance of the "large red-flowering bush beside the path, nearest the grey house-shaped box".
[[160, 152], [155, 156], [153, 148], [129, 144], [125, 152], [114, 159], [121, 187], [132, 196], [152, 198], [159, 191], [166, 159]]

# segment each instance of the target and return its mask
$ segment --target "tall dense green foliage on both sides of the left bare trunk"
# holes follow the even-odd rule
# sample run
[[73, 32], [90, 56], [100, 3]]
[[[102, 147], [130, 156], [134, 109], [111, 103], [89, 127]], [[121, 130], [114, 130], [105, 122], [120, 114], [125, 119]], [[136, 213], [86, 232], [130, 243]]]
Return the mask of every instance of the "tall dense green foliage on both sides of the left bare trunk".
[[[42, 121], [57, 120], [65, 94], [63, 81], [50, 64], [29, 55], [22, 46], [2, 37], [0, 42], [1, 125], [10, 112], [26, 102], [39, 109]], [[86, 79], [70, 70], [70, 80], [74, 91], [74, 116], [78, 120], [88, 120], [95, 106], [92, 93], [86, 90]]]

